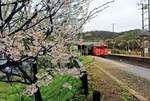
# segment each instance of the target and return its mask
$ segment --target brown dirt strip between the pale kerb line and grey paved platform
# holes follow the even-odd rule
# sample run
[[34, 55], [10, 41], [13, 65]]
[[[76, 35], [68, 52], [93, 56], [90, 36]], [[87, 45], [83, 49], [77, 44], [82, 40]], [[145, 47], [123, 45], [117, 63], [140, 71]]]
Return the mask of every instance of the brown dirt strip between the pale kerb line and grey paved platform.
[[119, 68], [114, 68], [108, 64], [104, 64], [101, 61], [95, 60], [100, 64], [106, 71], [117, 77], [119, 80], [124, 82], [127, 86], [139, 92], [140, 95], [150, 100], [150, 81], [133, 75], [131, 73], [122, 71]]

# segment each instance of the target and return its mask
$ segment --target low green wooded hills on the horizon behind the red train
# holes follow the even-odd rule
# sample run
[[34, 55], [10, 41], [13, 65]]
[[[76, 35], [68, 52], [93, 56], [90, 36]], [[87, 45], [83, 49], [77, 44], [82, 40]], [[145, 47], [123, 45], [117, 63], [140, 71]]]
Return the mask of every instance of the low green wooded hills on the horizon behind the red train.
[[107, 39], [115, 40], [131, 40], [140, 37], [142, 31], [139, 29], [125, 31], [125, 32], [109, 32], [109, 31], [91, 31], [81, 33], [81, 37], [85, 41], [99, 41]]

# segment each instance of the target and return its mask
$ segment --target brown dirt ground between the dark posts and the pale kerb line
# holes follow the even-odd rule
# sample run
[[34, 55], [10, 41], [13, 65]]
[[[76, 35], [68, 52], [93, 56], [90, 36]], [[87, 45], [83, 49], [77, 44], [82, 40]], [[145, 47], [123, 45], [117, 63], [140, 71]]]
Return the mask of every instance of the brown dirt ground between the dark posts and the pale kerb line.
[[100, 91], [103, 101], [137, 101], [128, 91], [122, 89], [115, 81], [98, 71], [94, 66], [91, 65], [87, 71], [91, 77], [90, 90]]

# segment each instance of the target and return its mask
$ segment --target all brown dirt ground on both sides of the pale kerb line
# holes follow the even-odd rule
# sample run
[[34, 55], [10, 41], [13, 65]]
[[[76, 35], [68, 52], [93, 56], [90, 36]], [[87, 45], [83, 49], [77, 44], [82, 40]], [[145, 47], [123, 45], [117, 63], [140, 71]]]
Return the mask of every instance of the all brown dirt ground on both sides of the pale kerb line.
[[[110, 64], [105, 64], [100, 60], [91, 59], [91, 63], [87, 64], [87, 72], [89, 74], [89, 87], [90, 91], [98, 90], [102, 94], [102, 101], [139, 101], [127, 90], [122, 88], [117, 82], [112, 80], [108, 75], [103, 73], [95, 66], [99, 65], [101, 68], [105, 69], [107, 72], [115, 76], [117, 79], [121, 80], [127, 86], [131, 87], [140, 95], [146, 97], [150, 100], [150, 82], [136, 77], [132, 74], [124, 72], [117, 68], [112, 68]], [[91, 97], [89, 97], [91, 101]]]

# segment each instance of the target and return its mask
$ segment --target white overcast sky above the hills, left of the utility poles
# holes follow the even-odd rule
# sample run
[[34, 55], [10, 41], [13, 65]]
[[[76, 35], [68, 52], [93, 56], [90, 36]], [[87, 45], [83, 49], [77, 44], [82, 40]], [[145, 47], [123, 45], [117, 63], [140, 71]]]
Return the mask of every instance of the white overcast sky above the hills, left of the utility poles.
[[[90, 10], [110, 0], [94, 0], [90, 4]], [[137, 5], [141, 0], [115, 0], [109, 8], [100, 12], [84, 26], [84, 31], [106, 30], [112, 31], [112, 24], [115, 24], [115, 31], [121, 32], [130, 29], [141, 29], [141, 10]]]

